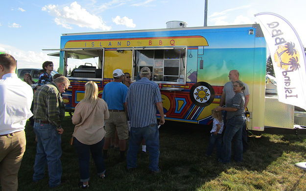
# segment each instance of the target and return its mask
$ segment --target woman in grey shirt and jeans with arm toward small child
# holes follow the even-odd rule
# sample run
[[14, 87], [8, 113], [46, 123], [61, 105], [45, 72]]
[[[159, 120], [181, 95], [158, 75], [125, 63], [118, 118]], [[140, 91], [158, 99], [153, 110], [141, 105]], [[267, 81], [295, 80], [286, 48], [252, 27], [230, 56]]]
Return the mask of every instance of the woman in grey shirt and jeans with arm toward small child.
[[230, 163], [232, 156], [232, 140], [234, 140], [234, 160], [242, 162], [242, 127], [246, 122], [244, 116], [244, 84], [241, 81], [233, 83], [235, 96], [226, 103], [226, 107], [217, 107], [219, 111], [227, 111], [226, 129], [223, 135], [222, 163]]

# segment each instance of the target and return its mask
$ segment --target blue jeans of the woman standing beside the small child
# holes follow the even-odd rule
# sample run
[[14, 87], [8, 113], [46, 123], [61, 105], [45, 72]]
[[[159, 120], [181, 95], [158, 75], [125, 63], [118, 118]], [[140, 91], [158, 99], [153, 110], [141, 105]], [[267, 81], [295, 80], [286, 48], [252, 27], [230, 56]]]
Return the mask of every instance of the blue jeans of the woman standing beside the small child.
[[246, 119], [237, 115], [228, 119], [223, 135], [222, 162], [230, 163], [232, 156], [232, 140], [234, 141], [234, 160], [242, 161], [242, 127]]

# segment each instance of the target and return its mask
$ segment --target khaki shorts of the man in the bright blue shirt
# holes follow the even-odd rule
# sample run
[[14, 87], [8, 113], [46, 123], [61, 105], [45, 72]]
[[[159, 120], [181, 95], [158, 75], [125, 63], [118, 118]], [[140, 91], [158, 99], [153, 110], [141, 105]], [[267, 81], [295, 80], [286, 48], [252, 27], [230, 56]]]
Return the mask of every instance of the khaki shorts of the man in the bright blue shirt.
[[110, 118], [105, 120], [105, 137], [114, 137], [116, 130], [119, 140], [125, 140], [129, 137], [129, 129], [127, 128], [126, 114], [124, 111], [110, 111]]

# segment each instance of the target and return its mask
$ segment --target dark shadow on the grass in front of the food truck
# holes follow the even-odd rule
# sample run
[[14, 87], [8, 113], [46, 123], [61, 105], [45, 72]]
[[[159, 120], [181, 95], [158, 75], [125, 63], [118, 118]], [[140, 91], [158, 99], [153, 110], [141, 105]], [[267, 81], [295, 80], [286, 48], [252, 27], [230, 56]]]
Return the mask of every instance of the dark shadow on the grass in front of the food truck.
[[[63, 184], [54, 189], [59, 191], [78, 190], [78, 159], [73, 146], [69, 144], [74, 129], [71, 117], [66, 116], [63, 124], [61, 158], [63, 166]], [[300, 152], [306, 155], [305, 146], [294, 144], [294, 135], [262, 136], [249, 139], [250, 149], [243, 156], [242, 163], [221, 164], [215, 154], [205, 157], [209, 142], [210, 126], [193, 125], [167, 121], [160, 128], [160, 167], [162, 173], [150, 174], [148, 170], [149, 154], [138, 154], [138, 167], [132, 173], [126, 171], [126, 163], [118, 163], [119, 151], [109, 150], [109, 159], [105, 161], [106, 179], [96, 176], [94, 162], [90, 164], [91, 190], [184, 190], [193, 191], [230, 169], [263, 171], [271, 163], [282, 157], [284, 152]], [[33, 128], [26, 126], [27, 145], [19, 172], [19, 190], [48, 190], [48, 176], [38, 183], [32, 182], [33, 164], [36, 154], [36, 142]], [[305, 137], [304, 137], [305, 141]], [[128, 148], [128, 144], [127, 144]], [[230, 173], [230, 172], [229, 172]]]

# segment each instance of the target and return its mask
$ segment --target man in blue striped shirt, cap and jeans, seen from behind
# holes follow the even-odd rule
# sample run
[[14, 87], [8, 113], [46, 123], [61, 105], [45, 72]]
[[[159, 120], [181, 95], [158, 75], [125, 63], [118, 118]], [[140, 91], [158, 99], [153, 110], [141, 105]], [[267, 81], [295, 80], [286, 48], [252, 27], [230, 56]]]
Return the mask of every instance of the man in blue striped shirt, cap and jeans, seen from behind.
[[125, 104], [131, 121], [129, 149], [127, 151], [127, 169], [137, 167], [137, 152], [141, 139], [145, 139], [150, 154], [149, 169], [153, 173], [160, 173], [159, 168], [159, 131], [156, 112], [161, 114], [159, 124], [165, 123], [161, 92], [155, 82], [150, 81], [151, 71], [148, 67], [141, 68], [141, 80], [134, 82], [128, 89]]

